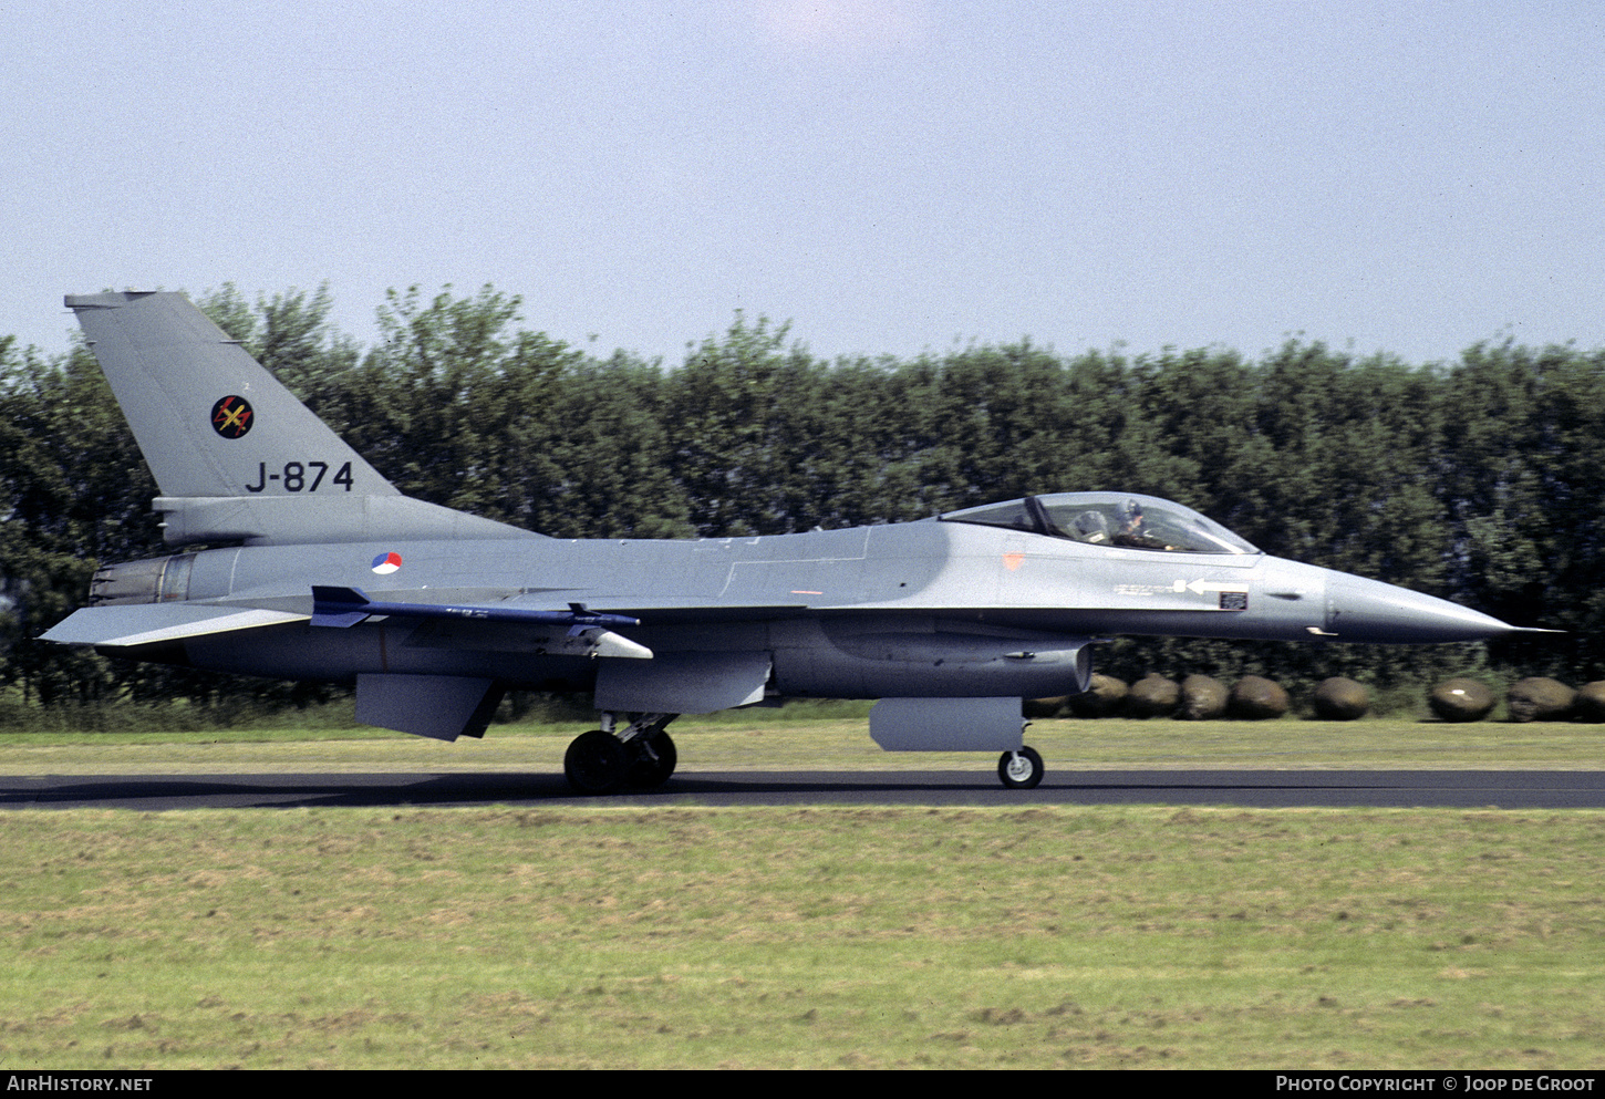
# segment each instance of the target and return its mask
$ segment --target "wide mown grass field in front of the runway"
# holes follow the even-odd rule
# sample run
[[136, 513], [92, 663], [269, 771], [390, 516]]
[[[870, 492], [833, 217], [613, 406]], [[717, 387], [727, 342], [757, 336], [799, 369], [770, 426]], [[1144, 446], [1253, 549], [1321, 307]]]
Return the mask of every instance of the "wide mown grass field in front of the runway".
[[18, 812], [5, 1067], [1605, 1065], [1597, 812]]

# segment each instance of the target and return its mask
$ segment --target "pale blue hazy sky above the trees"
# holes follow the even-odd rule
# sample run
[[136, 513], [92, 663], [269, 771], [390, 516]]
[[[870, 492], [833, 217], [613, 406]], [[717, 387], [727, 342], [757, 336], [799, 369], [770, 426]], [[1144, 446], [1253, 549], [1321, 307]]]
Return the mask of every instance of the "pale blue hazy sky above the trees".
[[485, 282], [679, 363], [1605, 345], [1605, 6], [0, 0], [0, 334]]

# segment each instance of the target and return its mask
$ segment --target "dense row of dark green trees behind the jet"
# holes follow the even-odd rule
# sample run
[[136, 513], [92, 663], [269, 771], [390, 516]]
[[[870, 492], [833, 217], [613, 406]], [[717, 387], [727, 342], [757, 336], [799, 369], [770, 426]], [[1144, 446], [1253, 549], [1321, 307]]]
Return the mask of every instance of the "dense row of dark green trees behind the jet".
[[[1570, 632], [1488, 651], [1122, 642], [1103, 650], [1115, 674], [1605, 677], [1605, 351], [1504, 342], [1409, 366], [1297, 340], [1258, 359], [1021, 342], [827, 363], [737, 314], [664, 367], [528, 332], [493, 287], [392, 292], [366, 351], [331, 329], [324, 292], [201, 305], [403, 493], [547, 534], [778, 534], [1151, 493], [1270, 554]], [[47, 703], [316, 696], [34, 640], [96, 562], [167, 552], [154, 494], [88, 351], [0, 339], [5, 680]]]

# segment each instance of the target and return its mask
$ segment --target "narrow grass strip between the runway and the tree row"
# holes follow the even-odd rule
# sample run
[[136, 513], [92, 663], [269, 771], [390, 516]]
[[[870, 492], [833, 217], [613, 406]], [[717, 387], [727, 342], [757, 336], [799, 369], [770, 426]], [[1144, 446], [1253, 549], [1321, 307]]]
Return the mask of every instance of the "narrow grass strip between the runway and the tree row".
[[[368, 727], [270, 725], [209, 732], [5, 733], [0, 773], [234, 770], [560, 772], [587, 722], [493, 725], [485, 740], [432, 741]], [[671, 732], [684, 770], [987, 772], [990, 752], [883, 752], [863, 717], [777, 720], [769, 711], [684, 717]], [[1515, 768], [1605, 767], [1605, 727], [1477, 722], [1042, 720], [1026, 735], [1050, 775], [1106, 768]]]

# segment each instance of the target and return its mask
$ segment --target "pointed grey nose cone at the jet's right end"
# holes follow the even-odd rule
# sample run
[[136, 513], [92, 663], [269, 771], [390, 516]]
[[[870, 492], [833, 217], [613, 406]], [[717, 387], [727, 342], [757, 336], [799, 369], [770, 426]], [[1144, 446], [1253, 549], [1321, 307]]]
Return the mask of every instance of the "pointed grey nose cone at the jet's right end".
[[1326, 629], [1339, 642], [1400, 645], [1480, 642], [1526, 632], [1446, 598], [1347, 573], [1327, 573]]

